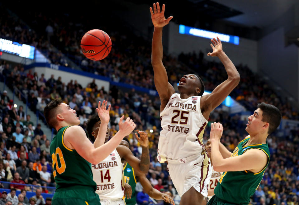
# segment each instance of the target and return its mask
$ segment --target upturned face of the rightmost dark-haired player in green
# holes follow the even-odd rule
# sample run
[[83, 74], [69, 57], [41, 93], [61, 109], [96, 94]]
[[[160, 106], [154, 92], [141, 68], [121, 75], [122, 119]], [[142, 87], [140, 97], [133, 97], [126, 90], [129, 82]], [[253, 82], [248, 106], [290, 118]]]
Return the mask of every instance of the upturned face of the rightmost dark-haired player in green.
[[246, 124], [245, 130], [249, 135], [256, 135], [263, 132], [263, 129], [265, 129], [264, 126], [267, 122], [263, 122], [262, 119], [263, 111], [260, 108], [255, 110], [254, 113], [248, 117], [248, 122]]

